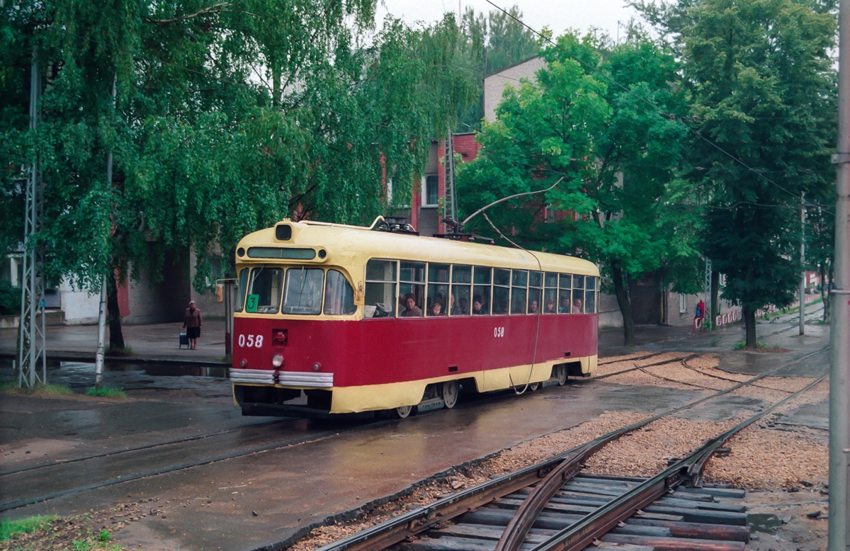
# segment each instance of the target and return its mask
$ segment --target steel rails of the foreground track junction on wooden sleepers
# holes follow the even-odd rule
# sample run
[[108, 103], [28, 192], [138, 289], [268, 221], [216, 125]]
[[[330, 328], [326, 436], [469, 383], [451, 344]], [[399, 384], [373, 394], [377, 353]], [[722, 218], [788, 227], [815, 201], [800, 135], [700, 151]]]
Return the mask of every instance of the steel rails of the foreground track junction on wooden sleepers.
[[[798, 361], [803, 361], [807, 357], [823, 352], [823, 349], [816, 350], [808, 355], [803, 355], [794, 361], [787, 362], [782, 366], [749, 378], [734, 384], [728, 389], [722, 389], [716, 393], [705, 396], [698, 400], [691, 401], [683, 406], [672, 408], [666, 412], [662, 412], [653, 417], [644, 419], [638, 423], [633, 423], [627, 427], [617, 429], [608, 435], [600, 436], [596, 440], [587, 442], [582, 446], [577, 446], [567, 452], [561, 453], [558, 456], [552, 457], [540, 463], [530, 465], [524, 469], [519, 469], [513, 473], [502, 475], [498, 478], [485, 482], [479, 486], [467, 488], [448, 497], [444, 497], [439, 501], [432, 503], [426, 507], [413, 510], [411, 512], [399, 515], [394, 519], [388, 520], [381, 525], [373, 526], [365, 531], [361, 531], [353, 536], [343, 538], [337, 542], [331, 543], [320, 549], [320, 551], [341, 551], [342, 549], [408, 549], [411, 551], [424, 549], [440, 549], [440, 547], [416, 547], [409, 538], [416, 538], [429, 530], [439, 529], [440, 526], [446, 525], [447, 521], [458, 517], [462, 514], [467, 514], [470, 511], [475, 511], [494, 500], [511, 496], [524, 488], [530, 486], [543, 488], [541, 497], [536, 497], [533, 500], [524, 500], [523, 503], [530, 503], [524, 508], [534, 513], [523, 513], [514, 515], [512, 521], [507, 522], [506, 528], [510, 528], [513, 536], [505, 536], [508, 532], [503, 532], [500, 537], [500, 546], [498, 550], [518, 549], [519, 545], [525, 541], [525, 535], [528, 534], [531, 526], [536, 525], [537, 515], [542, 508], [549, 503], [551, 496], [547, 494], [557, 493], [565, 482], [573, 479], [580, 472], [581, 464], [587, 460], [587, 457], [598, 452], [604, 446], [620, 438], [622, 435], [634, 432], [641, 429], [649, 423], [653, 423], [660, 418], [671, 416], [677, 412], [682, 412], [694, 406], [699, 406], [709, 400], [714, 400], [722, 395], [733, 392], [751, 383], [755, 383], [762, 378], [768, 377], [775, 372], [779, 372], [788, 366], [793, 365]], [[788, 401], [796, 398], [802, 393], [812, 389], [816, 384], [821, 383], [826, 377], [826, 373], [816, 378], [811, 383], [808, 383], [804, 388], [798, 389], [794, 394], [786, 396], [783, 400], [779, 400], [772, 406], [762, 409], [761, 412], [746, 419], [734, 429], [729, 429], [722, 435], [718, 435], [710, 440], [707, 440], [703, 446], [700, 446], [696, 451], [691, 453], [689, 457], [678, 460], [662, 470], [659, 474], [641, 481], [636, 489], [627, 491], [621, 499], [616, 500], [616, 503], [609, 508], [600, 508], [592, 514], [587, 514], [582, 517], [581, 521], [570, 523], [570, 528], [564, 528], [558, 531], [553, 537], [547, 537], [543, 542], [536, 543], [533, 549], [541, 551], [542, 549], [581, 549], [587, 547], [597, 541], [598, 537], [608, 531], [612, 526], [619, 525], [622, 519], [634, 514], [640, 508], [653, 503], [658, 497], [672, 488], [680, 486], [683, 481], [689, 480], [692, 484], [700, 486], [702, 483], [702, 469], [705, 468], [708, 459], [715, 453], [723, 443], [725, 443], [734, 434], [737, 434], [745, 427], [755, 423], [758, 419], [763, 418], [771, 412], [774, 412], [779, 406], [784, 405]], [[541, 504], [542, 503], [542, 504]], [[521, 505], [520, 508], [523, 506]], [[519, 509], [518, 509], [519, 511]], [[575, 520], [575, 519], [574, 519]], [[513, 526], [513, 527], [511, 527]], [[520, 537], [522, 536], [522, 537]], [[539, 536], [539, 534], [538, 534]], [[501, 539], [505, 543], [501, 543]], [[539, 537], [538, 537], [539, 539]], [[399, 542], [405, 542], [404, 545], [391, 547]], [[507, 541], [510, 540], [510, 544]], [[686, 543], [687, 544], [687, 543]], [[493, 542], [488, 542], [487, 545], [482, 545], [481, 549], [493, 549]], [[529, 547], [529, 542], [525, 542], [524, 548]], [[687, 547], [685, 547], [687, 548]], [[698, 548], [698, 547], [695, 547]]]

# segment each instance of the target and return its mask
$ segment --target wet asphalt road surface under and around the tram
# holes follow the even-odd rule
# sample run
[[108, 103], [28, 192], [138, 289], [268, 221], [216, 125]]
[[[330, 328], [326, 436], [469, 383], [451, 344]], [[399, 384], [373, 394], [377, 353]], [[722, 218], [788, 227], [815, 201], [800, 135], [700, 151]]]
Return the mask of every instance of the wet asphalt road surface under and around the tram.
[[[818, 308], [809, 310], [814, 321]], [[787, 354], [733, 352], [734, 344], [742, 338], [740, 326], [704, 334], [679, 328], [641, 328], [638, 347], [627, 351], [618, 346], [619, 333], [608, 333], [601, 339], [600, 354], [679, 349], [713, 352], [720, 355], [724, 369], [751, 374], [823, 348], [828, 342], [824, 326], [808, 325], [805, 337], [797, 335], [796, 329], [796, 318], [759, 326], [759, 340], [793, 350]], [[827, 356], [813, 355], [791, 366], [786, 374], [819, 374], [827, 365]], [[59, 369], [51, 380], [63, 376], [83, 380], [86, 369], [82, 365]], [[256, 446], [280, 447], [71, 493], [12, 509], [3, 516], [71, 514], [159, 497], [157, 505], [165, 510], [165, 518], [149, 516], [131, 523], [116, 534], [119, 542], [145, 549], [258, 548], [283, 541], [328, 515], [403, 491], [452, 466], [570, 428], [604, 411], [659, 411], [698, 395], [696, 391], [669, 389], [649, 393], [642, 389], [635, 395], [628, 387], [586, 380], [519, 397], [502, 395], [462, 402], [454, 410], [429, 412], [401, 422], [269, 423], [266, 418], [242, 418], [232, 406], [228, 383], [222, 379], [166, 378], [145, 372], [108, 375], [132, 389], [131, 396], [136, 400], [0, 397], [0, 470], [5, 473], [60, 459], [229, 432], [65, 466], [3, 474], [3, 503], [118, 481], [118, 477], [126, 479], [127, 475], [175, 464], [198, 463], [199, 459]], [[723, 420], [741, 409], [760, 405], [758, 400], [726, 397], [702, 408], [700, 415]], [[816, 404], [786, 420], [823, 426], [824, 411]]]

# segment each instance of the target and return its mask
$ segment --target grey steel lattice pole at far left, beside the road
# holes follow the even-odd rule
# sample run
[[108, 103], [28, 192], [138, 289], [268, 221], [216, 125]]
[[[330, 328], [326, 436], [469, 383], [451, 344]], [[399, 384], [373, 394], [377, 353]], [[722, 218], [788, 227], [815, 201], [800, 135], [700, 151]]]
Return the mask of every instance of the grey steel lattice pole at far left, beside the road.
[[[38, 128], [38, 98], [42, 79], [38, 70], [38, 51], [32, 48], [30, 74], [30, 131]], [[23, 281], [20, 282], [20, 324], [18, 327], [18, 386], [32, 389], [37, 383], [47, 383], [47, 357], [44, 354], [44, 278], [42, 277], [42, 247], [33, 242], [42, 228], [44, 191], [38, 172], [39, 152], [36, 151], [26, 182], [26, 212], [24, 213]], [[41, 375], [38, 365], [41, 364]]]

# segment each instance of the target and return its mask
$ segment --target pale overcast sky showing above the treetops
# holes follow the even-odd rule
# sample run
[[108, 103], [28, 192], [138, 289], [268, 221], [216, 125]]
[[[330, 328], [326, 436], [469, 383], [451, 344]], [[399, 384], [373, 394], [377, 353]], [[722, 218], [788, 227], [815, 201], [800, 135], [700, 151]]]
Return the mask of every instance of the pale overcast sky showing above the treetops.
[[[587, 31], [597, 27], [608, 31], [612, 38], [617, 37], [617, 23], [625, 24], [634, 10], [626, 7], [625, 0], [493, 0], [497, 6], [509, 9], [519, 6], [526, 25], [539, 31], [548, 26], [557, 37], [568, 28]], [[416, 21], [433, 23], [442, 18], [443, 13], [457, 13], [458, 6], [463, 10], [473, 8], [476, 13], [489, 13], [495, 9], [486, 0], [378, 0], [377, 23], [380, 27], [384, 15], [393, 14], [409, 25]]]

